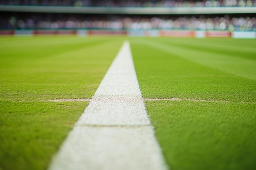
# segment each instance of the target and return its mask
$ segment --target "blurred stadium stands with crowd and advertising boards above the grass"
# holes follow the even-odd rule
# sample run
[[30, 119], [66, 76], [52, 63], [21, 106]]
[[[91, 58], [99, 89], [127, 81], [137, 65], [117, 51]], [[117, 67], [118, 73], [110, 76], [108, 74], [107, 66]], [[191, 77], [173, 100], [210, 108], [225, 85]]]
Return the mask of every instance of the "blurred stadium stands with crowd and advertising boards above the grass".
[[256, 38], [256, 0], [0, 0], [0, 35]]

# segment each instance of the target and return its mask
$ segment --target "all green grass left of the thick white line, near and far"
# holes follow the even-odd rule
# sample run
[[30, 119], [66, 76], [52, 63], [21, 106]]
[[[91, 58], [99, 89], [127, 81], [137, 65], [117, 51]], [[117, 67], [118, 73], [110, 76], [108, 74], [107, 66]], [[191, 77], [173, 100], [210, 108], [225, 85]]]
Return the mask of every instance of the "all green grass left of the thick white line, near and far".
[[121, 47], [112, 38], [0, 38], [0, 170], [45, 170]]

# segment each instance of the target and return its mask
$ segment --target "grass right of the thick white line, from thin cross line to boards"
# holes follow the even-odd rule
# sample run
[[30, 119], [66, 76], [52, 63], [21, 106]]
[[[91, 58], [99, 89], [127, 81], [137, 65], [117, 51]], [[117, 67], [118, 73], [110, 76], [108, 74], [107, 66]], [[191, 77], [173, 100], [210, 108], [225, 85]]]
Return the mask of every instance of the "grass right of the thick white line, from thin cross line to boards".
[[[202, 54], [200, 50], [188, 50], [186, 46], [176, 45], [177, 41], [183, 41], [183, 44], [198, 44], [199, 47], [202, 44], [217, 43], [211, 42], [211, 40], [153, 39], [131, 41], [133, 42], [132, 53], [143, 97], [255, 102], [256, 55], [254, 59], [233, 55], [228, 55], [225, 58], [225, 56], [220, 57], [218, 53], [215, 53], [213, 48], [209, 48], [208, 53]], [[222, 40], [219, 39], [220, 42]], [[237, 40], [229, 39], [229, 41], [227, 46], [234, 46], [233, 44]], [[251, 41], [252, 44], [256, 45], [255, 40]], [[240, 43], [243, 44], [242, 41]], [[252, 49], [255, 50], [253, 46]], [[234, 50], [240, 51], [238, 47]], [[256, 50], [254, 53], [256, 54]], [[230, 62], [228, 62], [228, 58]], [[235, 66], [237, 66], [236, 73]], [[243, 76], [241, 75], [242, 72]]]

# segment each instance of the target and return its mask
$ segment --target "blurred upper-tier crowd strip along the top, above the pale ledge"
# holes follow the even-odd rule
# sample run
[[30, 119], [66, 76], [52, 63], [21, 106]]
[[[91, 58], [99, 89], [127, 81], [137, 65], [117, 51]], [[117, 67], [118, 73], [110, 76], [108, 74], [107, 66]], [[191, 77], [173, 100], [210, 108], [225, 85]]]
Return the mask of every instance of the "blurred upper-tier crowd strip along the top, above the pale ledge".
[[80, 7], [252, 7], [256, 0], [0, 0], [0, 5]]

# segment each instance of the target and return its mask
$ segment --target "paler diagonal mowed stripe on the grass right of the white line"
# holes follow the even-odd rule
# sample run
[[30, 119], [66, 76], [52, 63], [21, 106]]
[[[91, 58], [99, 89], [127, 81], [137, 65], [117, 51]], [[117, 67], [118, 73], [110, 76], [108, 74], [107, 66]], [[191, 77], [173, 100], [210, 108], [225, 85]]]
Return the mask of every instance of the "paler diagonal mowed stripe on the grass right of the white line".
[[[256, 60], [234, 57], [232, 55], [216, 54], [212, 53], [211, 50], [206, 52], [200, 51], [199, 49], [189, 49], [183, 47], [182, 44], [175, 45], [175, 43], [173, 43], [175, 42], [175, 39], [171, 41], [169, 40], [168, 42], [165, 42], [164, 40], [166, 39], [156, 40], [154, 43], [150, 41], [145, 43], [148, 43], [148, 45], [153, 48], [158, 48], [177, 57], [182, 57], [198, 64], [225, 71], [226, 73], [256, 80]], [[239, 49], [234, 50], [239, 51]]]

